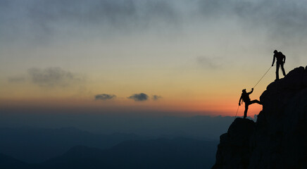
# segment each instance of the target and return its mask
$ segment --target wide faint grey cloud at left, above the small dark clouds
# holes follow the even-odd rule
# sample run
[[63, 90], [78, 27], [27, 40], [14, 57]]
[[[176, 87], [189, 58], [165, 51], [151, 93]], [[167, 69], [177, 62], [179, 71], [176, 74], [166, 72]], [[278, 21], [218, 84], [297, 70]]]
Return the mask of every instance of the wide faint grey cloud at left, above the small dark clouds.
[[34, 84], [40, 87], [68, 87], [84, 82], [84, 77], [61, 68], [30, 68], [27, 71]]

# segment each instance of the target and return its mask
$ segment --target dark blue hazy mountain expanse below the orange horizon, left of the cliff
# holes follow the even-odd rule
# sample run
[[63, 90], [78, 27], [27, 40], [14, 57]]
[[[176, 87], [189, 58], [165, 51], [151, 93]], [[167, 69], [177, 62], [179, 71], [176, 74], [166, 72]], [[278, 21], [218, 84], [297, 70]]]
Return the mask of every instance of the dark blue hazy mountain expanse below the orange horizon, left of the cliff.
[[[110, 158], [106, 162], [108, 156], [116, 157], [123, 163], [134, 161], [133, 165], [138, 166], [154, 161], [159, 168], [169, 168], [171, 165], [180, 168], [189, 163], [197, 163], [197, 167], [209, 167], [214, 163], [219, 134], [225, 132], [233, 120], [233, 117], [201, 115], [118, 117], [93, 113], [76, 115], [6, 111], [1, 112], [1, 117], [1, 158], [10, 159], [10, 165], [14, 164], [16, 168], [20, 168], [20, 165], [23, 168], [47, 168], [49, 165], [76, 168], [84, 165], [66, 160], [77, 158], [80, 161], [79, 158], [83, 158], [80, 154], [90, 155], [94, 153], [93, 150], [99, 151], [101, 162], [95, 165], [100, 167], [125, 168], [114, 165], [116, 162]], [[91, 132], [87, 132], [87, 129]], [[72, 152], [80, 154], [72, 157]], [[121, 156], [119, 153], [126, 155]], [[139, 161], [144, 153], [148, 158]], [[93, 160], [98, 161], [98, 157], [89, 155], [87, 158], [91, 159], [91, 163], [94, 163]], [[175, 161], [177, 158], [181, 160]], [[132, 168], [133, 165], [129, 165]]]

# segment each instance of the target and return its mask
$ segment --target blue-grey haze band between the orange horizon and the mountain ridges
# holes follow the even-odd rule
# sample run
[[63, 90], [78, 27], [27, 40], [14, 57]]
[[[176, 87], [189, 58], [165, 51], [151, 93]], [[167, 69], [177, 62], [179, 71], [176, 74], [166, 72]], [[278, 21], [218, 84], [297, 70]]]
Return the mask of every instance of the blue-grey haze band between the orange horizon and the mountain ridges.
[[[239, 96], [238, 96], [239, 99]], [[0, 127], [62, 128], [75, 127], [93, 133], [113, 134], [134, 133], [141, 136], [189, 136], [219, 139], [226, 132], [233, 117], [198, 115], [192, 117], [164, 115], [110, 115], [87, 112], [65, 113], [52, 110], [6, 111], [0, 112]], [[235, 115], [235, 112], [233, 112]]]

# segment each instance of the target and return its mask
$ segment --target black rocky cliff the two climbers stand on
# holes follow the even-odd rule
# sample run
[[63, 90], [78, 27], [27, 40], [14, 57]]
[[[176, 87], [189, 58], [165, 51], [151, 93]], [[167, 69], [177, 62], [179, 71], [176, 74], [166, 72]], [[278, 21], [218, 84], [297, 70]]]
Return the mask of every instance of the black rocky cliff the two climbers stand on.
[[253, 120], [236, 118], [220, 144], [213, 169], [307, 168], [307, 66], [272, 82]]

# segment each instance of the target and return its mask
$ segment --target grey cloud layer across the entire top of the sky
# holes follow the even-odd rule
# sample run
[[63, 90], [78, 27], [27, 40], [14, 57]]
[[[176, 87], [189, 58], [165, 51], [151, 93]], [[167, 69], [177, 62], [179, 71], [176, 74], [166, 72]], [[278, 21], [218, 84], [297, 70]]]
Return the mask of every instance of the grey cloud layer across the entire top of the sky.
[[180, 30], [190, 32], [199, 23], [208, 27], [218, 23], [225, 27], [226, 20], [251, 35], [256, 33], [254, 30], [268, 33], [267, 37], [275, 43], [307, 37], [304, 1], [29, 0], [0, 3], [0, 35], [8, 40], [27, 37], [27, 40], [43, 41], [56, 38], [54, 35], [97, 37], [110, 35], [110, 32], [127, 35], [142, 30], [179, 31], [177, 36], [180, 36]]

